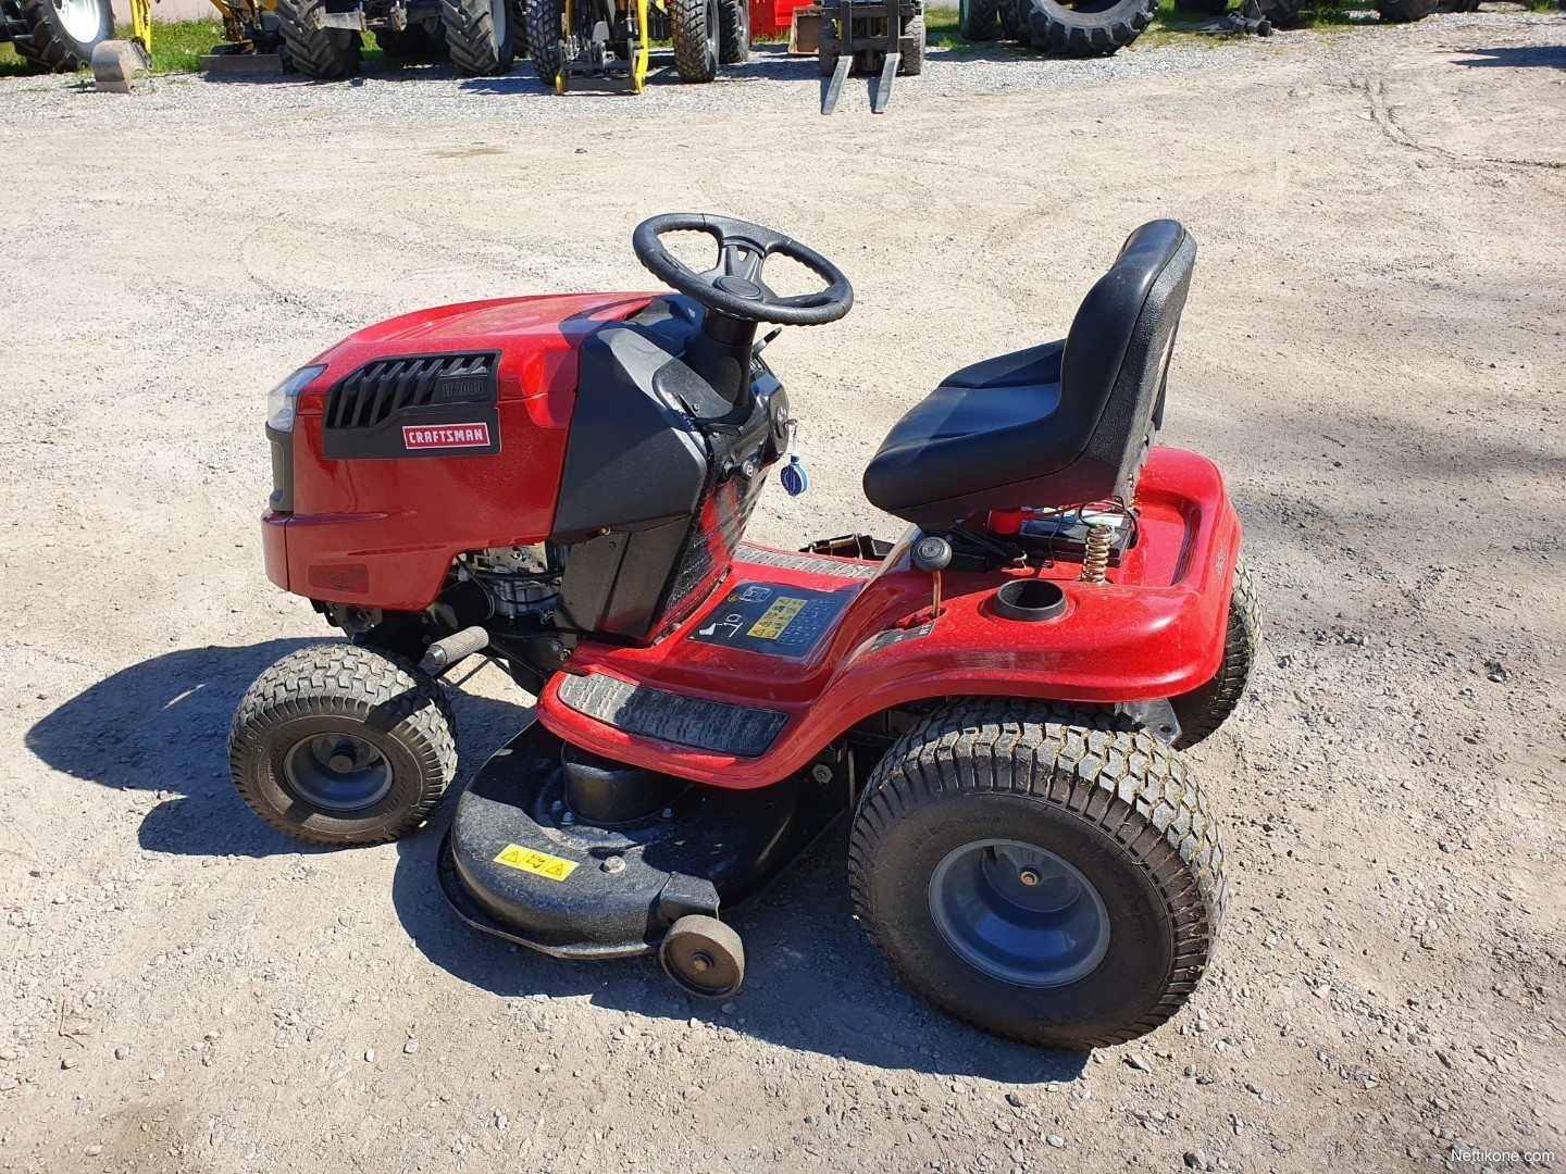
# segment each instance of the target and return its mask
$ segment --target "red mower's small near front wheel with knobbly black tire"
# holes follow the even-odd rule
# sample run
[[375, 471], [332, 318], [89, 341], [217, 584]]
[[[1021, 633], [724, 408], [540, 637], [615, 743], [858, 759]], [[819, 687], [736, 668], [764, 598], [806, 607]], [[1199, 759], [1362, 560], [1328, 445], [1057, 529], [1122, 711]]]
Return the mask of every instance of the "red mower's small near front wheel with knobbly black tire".
[[412, 661], [312, 645], [246, 690], [229, 769], [251, 811], [294, 839], [385, 844], [440, 801], [457, 772], [454, 731], [445, 690]]

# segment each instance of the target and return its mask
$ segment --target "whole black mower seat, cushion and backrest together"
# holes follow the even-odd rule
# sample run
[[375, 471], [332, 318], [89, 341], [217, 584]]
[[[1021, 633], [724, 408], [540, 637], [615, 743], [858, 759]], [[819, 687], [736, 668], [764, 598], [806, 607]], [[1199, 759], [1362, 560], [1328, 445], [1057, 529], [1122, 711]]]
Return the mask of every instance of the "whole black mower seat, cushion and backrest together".
[[965, 366], [899, 420], [864, 496], [936, 532], [994, 509], [1129, 501], [1162, 424], [1195, 260], [1179, 222], [1143, 224], [1065, 340]]

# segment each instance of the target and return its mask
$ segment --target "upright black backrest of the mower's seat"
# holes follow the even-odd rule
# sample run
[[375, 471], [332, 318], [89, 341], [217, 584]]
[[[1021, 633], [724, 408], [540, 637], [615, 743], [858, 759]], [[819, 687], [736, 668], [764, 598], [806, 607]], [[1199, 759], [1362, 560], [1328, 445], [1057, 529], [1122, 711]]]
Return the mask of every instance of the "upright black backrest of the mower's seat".
[[1060, 363], [1060, 415], [1088, 441], [1066, 473], [1081, 477], [1081, 488], [1063, 493], [1062, 502], [1131, 501], [1164, 423], [1170, 352], [1195, 263], [1196, 241], [1184, 225], [1149, 221], [1126, 238], [1115, 265], [1082, 299]]

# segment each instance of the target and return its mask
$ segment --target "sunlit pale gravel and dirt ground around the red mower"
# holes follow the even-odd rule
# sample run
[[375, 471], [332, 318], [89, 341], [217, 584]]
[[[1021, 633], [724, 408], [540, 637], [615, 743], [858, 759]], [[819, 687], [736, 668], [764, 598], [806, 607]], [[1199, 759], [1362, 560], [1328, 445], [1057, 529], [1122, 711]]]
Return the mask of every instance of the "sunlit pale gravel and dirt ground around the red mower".
[[[1563, 41], [1499, 9], [1015, 86], [996, 58], [988, 91], [936, 58], [833, 121], [803, 74], [731, 108], [0, 88], [0, 1168], [1558, 1161]], [[432, 875], [449, 805], [299, 852], [233, 795], [235, 701], [326, 634], [262, 573], [265, 390], [423, 304], [645, 288], [630, 232], [673, 208], [786, 229], [857, 286], [770, 352], [813, 474], [769, 493], [777, 545], [896, 532], [858, 473], [902, 410], [1055, 337], [1143, 219], [1200, 239], [1165, 438], [1223, 466], [1268, 628], [1193, 753], [1229, 920], [1153, 1036], [1048, 1053], [927, 1010], [853, 924], [839, 842], [739, 917], [723, 1010], [650, 960], [468, 931]], [[525, 704], [460, 686], [459, 783]]]

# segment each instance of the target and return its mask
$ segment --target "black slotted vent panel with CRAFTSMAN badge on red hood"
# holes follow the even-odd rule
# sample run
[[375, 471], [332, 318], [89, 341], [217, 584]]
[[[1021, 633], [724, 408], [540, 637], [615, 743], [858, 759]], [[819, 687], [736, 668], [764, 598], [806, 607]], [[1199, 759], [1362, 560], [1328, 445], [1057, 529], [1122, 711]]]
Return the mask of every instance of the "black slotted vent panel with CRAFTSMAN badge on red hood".
[[500, 452], [500, 355], [377, 358], [326, 393], [321, 456], [387, 460]]

